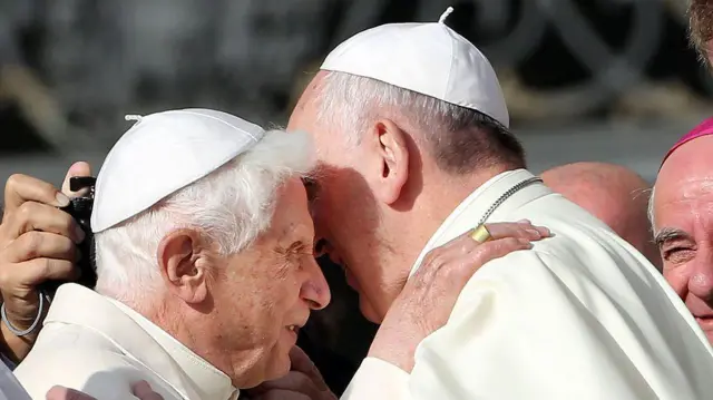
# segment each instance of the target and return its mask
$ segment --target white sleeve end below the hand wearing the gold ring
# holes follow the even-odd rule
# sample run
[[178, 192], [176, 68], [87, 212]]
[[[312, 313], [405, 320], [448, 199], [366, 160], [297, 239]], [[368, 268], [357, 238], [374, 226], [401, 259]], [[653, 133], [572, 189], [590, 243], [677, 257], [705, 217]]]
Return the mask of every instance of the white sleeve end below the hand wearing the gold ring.
[[341, 400], [407, 400], [409, 373], [389, 362], [368, 357]]

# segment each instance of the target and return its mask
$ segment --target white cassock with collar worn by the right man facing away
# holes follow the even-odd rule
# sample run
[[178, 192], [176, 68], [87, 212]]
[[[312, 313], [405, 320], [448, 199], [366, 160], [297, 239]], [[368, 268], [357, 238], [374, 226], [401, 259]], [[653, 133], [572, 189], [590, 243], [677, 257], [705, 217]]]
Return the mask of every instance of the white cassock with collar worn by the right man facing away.
[[[472, 193], [423, 255], [472, 228], [508, 189], [500, 174]], [[423, 340], [411, 374], [364, 360], [349, 400], [702, 400], [713, 352], [662, 275], [604, 223], [540, 183], [488, 222], [527, 218], [555, 236], [484, 265], [448, 323]]]

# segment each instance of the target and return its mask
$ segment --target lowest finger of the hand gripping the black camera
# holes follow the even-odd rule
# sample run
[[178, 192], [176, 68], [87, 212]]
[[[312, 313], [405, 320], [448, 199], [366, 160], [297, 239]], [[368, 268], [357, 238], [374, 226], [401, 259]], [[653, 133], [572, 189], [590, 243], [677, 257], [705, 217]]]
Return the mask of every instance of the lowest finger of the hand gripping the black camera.
[[[0, 287], [36, 286], [45, 281], [76, 281], [81, 272], [71, 261], [55, 258], [35, 258], [13, 269], [0, 270]], [[4, 289], [3, 289], [4, 290]]]

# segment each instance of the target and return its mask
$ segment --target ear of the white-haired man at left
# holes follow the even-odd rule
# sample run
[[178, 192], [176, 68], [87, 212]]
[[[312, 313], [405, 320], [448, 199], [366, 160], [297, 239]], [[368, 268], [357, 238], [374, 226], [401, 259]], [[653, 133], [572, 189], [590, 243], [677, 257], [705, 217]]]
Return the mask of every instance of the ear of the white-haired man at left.
[[198, 304], [208, 295], [208, 248], [197, 232], [178, 230], [158, 245], [158, 266], [166, 289], [186, 303]]

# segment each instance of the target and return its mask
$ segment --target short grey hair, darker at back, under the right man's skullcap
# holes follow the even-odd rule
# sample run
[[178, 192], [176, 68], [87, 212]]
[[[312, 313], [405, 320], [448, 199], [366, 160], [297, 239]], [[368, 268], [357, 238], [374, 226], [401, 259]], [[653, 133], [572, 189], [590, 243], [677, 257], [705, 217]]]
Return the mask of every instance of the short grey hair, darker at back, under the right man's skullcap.
[[402, 117], [419, 133], [414, 140], [427, 145], [443, 170], [463, 174], [497, 163], [525, 166], [525, 152], [517, 138], [477, 110], [333, 71], [325, 74], [318, 98], [318, 123], [349, 133], [350, 143], [358, 144], [360, 133], [377, 118]]

